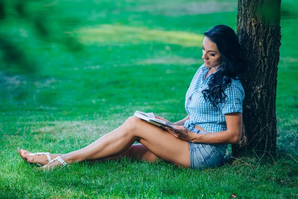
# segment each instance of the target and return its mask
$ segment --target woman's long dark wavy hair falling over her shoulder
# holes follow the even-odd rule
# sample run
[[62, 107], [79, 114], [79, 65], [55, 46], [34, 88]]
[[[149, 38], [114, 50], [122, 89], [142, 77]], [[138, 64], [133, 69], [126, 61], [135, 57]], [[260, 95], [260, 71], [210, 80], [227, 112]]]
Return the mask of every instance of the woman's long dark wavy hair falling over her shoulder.
[[211, 77], [208, 89], [202, 91], [205, 100], [212, 102], [212, 108], [218, 110], [218, 104], [224, 103], [224, 90], [230, 87], [232, 79], [239, 79], [243, 70], [238, 37], [230, 27], [217, 25], [204, 32], [214, 42], [223, 58], [221, 70]]

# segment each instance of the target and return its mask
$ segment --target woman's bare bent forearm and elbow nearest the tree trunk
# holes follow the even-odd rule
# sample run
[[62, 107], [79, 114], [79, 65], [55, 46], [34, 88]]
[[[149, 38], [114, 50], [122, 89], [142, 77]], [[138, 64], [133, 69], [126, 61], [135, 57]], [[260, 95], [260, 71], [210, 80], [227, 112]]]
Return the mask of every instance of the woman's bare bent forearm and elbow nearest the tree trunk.
[[191, 142], [206, 144], [238, 144], [242, 133], [242, 113], [227, 113], [225, 116], [226, 130], [216, 133], [196, 133]]

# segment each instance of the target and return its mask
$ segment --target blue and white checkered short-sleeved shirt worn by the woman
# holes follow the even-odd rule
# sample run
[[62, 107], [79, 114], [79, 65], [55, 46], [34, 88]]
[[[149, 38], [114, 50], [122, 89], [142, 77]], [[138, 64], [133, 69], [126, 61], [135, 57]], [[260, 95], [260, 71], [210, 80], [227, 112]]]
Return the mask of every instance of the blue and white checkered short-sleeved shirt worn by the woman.
[[211, 74], [204, 80], [208, 70], [203, 64], [191, 81], [185, 98], [185, 109], [190, 118], [185, 121], [184, 126], [190, 128], [196, 124], [206, 131], [214, 133], [226, 130], [224, 114], [230, 112], [242, 113], [244, 90], [239, 80], [232, 79], [231, 86], [224, 90], [225, 102], [217, 105], [218, 110], [212, 109], [212, 103], [209, 100], [206, 102], [202, 94], [202, 91], [208, 88], [207, 83], [213, 76]]

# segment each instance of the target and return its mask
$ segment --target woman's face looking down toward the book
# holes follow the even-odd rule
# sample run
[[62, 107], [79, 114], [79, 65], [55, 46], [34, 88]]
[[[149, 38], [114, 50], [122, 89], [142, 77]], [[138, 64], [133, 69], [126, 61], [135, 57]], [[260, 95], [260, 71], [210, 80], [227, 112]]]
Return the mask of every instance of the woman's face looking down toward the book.
[[203, 56], [205, 66], [207, 68], [218, 67], [222, 65], [222, 55], [217, 49], [217, 46], [207, 36], [203, 40]]

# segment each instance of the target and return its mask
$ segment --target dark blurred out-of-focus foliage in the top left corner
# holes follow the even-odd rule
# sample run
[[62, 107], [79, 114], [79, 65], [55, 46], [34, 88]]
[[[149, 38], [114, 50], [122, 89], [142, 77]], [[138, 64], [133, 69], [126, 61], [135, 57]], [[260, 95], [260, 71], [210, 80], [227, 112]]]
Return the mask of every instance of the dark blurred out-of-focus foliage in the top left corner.
[[70, 34], [78, 20], [53, 17], [59, 14], [56, 5], [54, 0], [0, 0], [0, 70], [38, 73], [43, 58], [50, 59], [36, 54], [41, 46], [81, 50], [82, 45]]

